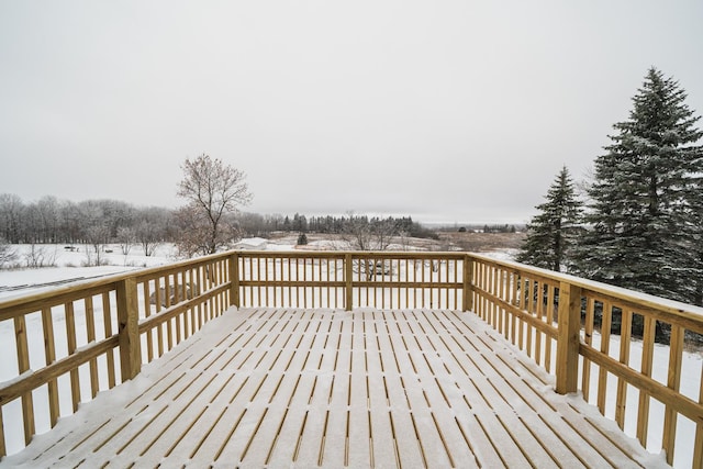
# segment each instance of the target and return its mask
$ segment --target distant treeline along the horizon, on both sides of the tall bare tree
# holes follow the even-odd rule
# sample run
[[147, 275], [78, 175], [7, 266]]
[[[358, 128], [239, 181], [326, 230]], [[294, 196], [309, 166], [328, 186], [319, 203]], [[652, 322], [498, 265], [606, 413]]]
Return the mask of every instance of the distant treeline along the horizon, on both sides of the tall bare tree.
[[[272, 232], [345, 234], [359, 226], [390, 228], [391, 235], [436, 238], [434, 231], [414, 222], [410, 216], [368, 217], [305, 216], [295, 214], [260, 215], [238, 213], [224, 223], [236, 228], [241, 236], [268, 237]], [[44, 197], [24, 202], [15, 194], [0, 194], [0, 241], [10, 244], [108, 244], [131, 242], [144, 244], [177, 239], [177, 210], [159, 206], [134, 206], [116, 200], [71, 202]]]

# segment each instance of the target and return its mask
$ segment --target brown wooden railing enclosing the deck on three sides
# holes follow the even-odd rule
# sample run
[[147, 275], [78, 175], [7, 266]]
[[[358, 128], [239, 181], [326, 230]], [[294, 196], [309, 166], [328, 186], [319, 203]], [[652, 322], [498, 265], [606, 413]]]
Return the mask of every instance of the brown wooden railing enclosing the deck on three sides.
[[0, 377], [0, 456], [231, 305], [472, 311], [555, 375], [557, 392], [580, 391], [670, 464], [703, 465], [703, 360], [682, 369], [701, 309], [473, 254], [301, 250], [230, 252], [0, 301], [0, 353], [16, 358]]

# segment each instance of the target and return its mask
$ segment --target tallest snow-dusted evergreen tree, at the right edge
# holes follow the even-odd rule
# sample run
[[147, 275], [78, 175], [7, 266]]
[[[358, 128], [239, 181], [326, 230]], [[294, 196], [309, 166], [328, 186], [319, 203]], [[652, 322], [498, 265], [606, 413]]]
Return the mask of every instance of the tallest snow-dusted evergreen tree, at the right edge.
[[[629, 119], [613, 125], [611, 145], [595, 160], [579, 270], [621, 287], [693, 301], [700, 265], [691, 256], [701, 225], [703, 133], [679, 83], [649, 69]], [[698, 211], [700, 213], [700, 211]], [[699, 256], [700, 257], [700, 256]]]

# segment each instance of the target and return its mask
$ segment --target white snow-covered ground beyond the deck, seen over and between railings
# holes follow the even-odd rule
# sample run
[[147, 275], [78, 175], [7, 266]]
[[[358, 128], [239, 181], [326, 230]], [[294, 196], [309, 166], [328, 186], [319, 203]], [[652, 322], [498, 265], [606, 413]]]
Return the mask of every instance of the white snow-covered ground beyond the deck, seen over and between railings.
[[[256, 238], [256, 239], [246, 239], [244, 241], [244, 245], [239, 246], [243, 248], [254, 248], [254, 249], [292, 249], [294, 246], [292, 244], [287, 244], [287, 241], [281, 239], [279, 243], [267, 243], [265, 239]], [[40, 246], [42, 249], [46, 250], [47, 256], [53, 256], [54, 263], [57, 267], [42, 268], [42, 269], [18, 269], [18, 270], [2, 270], [0, 271], [0, 300], [7, 299], [14, 295], [24, 295], [27, 293], [33, 293], [43, 289], [51, 289], [57, 284], [62, 284], [65, 281], [71, 280], [85, 280], [90, 278], [97, 278], [101, 276], [112, 275], [124, 272], [129, 270], [134, 270], [143, 267], [152, 267], [158, 265], [165, 265], [172, 263], [176, 260], [174, 255], [175, 249], [170, 245], [160, 246], [154, 256], [144, 256], [144, 253], [137, 248], [136, 246], [130, 252], [129, 255], [124, 256], [120, 252], [119, 246], [108, 246], [108, 250], [112, 250], [112, 253], [104, 253], [104, 259], [108, 260], [109, 265], [99, 266], [99, 267], [81, 267], [82, 264], [87, 260], [87, 254], [83, 250], [68, 250], [65, 249], [64, 246]], [[309, 249], [315, 248], [325, 248], [328, 247], [328, 244], [324, 242], [316, 242], [315, 244], [306, 246]], [[35, 246], [36, 248], [36, 246]], [[80, 246], [79, 249], [85, 249], [85, 246]], [[30, 246], [20, 246], [18, 248], [19, 259], [22, 259], [23, 255], [26, 255]], [[495, 252], [492, 254], [493, 257], [505, 259], [511, 258], [512, 253], [510, 252]], [[30, 336], [36, 335], [42, 337], [41, 330], [41, 317], [36, 315], [34, 321], [32, 319], [27, 320], [27, 331]], [[77, 330], [85, 331], [85, 316], [77, 315]], [[81, 323], [83, 321], [83, 323]], [[98, 325], [100, 328], [101, 325]], [[13, 339], [13, 324], [10, 321], [5, 321], [0, 324], [0, 356], [13, 356], [14, 355], [14, 339]], [[65, 335], [57, 334], [56, 335], [57, 349], [66, 349], [65, 344]], [[85, 343], [85, 337], [82, 338]], [[31, 350], [31, 357], [43, 357], [43, 340], [36, 339], [30, 342], [31, 347], [34, 347], [34, 350]], [[593, 346], [600, 346], [600, 336], [598, 334], [593, 337]], [[613, 336], [611, 337], [610, 345], [611, 356], [617, 359], [617, 354], [620, 350], [620, 337]], [[655, 365], [652, 377], [658, 379], [660, 382], [666, 382], [667, 373], [668, 373], [668, 347], [656, 345], [655, 347]], [[556, 356], [556, 350], [553, 353], [553, 357]], [[104, 360], [104, 359], [103, 359]], [[631, 365], [634, 368], [639, 367], [639, 362], [641, 360], [641, 344], [635, 342], [632, 346], [631, 350]], [[16, 364], [14, 360], [1, 360], [0, 361], [0, 382], [11, 380], [16, 377]], [[38, 368], [43, 366], [43, 362], [32, 360], [31, 366], [33, 368]], [[553, 364], [554, 366], [554, 364]], [[682, 371], [682, 382], [681, 382], [681, 392], [691, 398], [694, 401], [699, 400], [699, 392], [701, 389], [700, 376], [701, 376], [701, 367], [703, 366], [703, 359], [700, 353], [685, 353], [683, 356], [683, 371]], [[83, 370], [87, 372], [87, 370]], [[101, 377], [103, 380], [104, 377]], [[596, 389], [598, 383], [598, 372], [595, 368], [591, 370], [591, 400], [595, 400], [595, 395], [598, 394]], [[68, 377], [62, 377], [59, 379], [59, 386], [69, 386]], [[90, 395], [90, 380], [81, 379], [81, 386], [86, 387], [82, 389], [82, 395]], [[45, 388], [45, 387], [44, 387]], [[606, 402], [606, 415], [609, 417], [613, 417], [615, 413], [615, 392], [617, 389], [617, 380], [615, 377], [609, 376], [607, 383], [607, 395], [609, 400]], [[70, 414], [70, 393], [62, 393], [63, 397], [66, 398], [66, 402], [60, 403], [60, 407], [66, 410], [66, 414]], [[637, 403], [639, 395], [638, 391], [633, 387], [628, 387], [627, 390], [627, 403], [628, 406], [634, 406]], [[48, 425], [48, 403], [46, 399], [46, 391], [37, 390], [35, 391], [35, 405], [36, 405], [36, 414], [37, 414], [37, 434], [44, 433], [49, 428]], [[102, 399], [101, 402], [105, 402], [108, 400]], [[42, 407], [43, 405], [44, 407]], [[12, 431], [5, 429], [5, 437], [8, 444], [8, 453], [16, 453], [23, 447], [23, 437], [21, 432], [21, 409], [20, 402], [15, 401], [14, 403], [5, 406], [3, 410], [3, 417], [5, 427], [12, 426]], [[634, 437], [636, 434], [636, 411], [628, 411], [626, 413], [625, 418], [625, 432], [627, 435]], [[661, 444], [661, 427], [663, 425], [663, 406], [656, 401], [651, 401], [650, 407], [650, 423], [651, 428], [648, 438], [650, 448], [658, 448]], [[16, 431], [14, 428], [16, 427]], [[677, 431], [677, 447], [680, 448], [677, 451], [679, 456], [674, 460], [676, 467], [690, 467], [690, 459], [687, 460], [684, 455], [692, 455], [692, 448], [694, 445], [695, 438], [695, 425], [693, 422], [688, 418], [679, 416], [678, 420], [678, 431]], [[690, 449], [684, 449], [690, 448]]]

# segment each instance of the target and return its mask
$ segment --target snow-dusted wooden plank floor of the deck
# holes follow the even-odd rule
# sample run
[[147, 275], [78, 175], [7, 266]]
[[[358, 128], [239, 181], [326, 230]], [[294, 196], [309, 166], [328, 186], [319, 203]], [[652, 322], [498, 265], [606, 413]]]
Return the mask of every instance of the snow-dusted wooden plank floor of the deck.
[[478, 317], [230, 310], [0, 467], [666, 467]]

